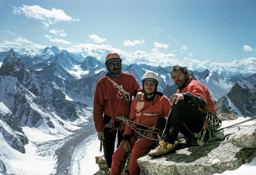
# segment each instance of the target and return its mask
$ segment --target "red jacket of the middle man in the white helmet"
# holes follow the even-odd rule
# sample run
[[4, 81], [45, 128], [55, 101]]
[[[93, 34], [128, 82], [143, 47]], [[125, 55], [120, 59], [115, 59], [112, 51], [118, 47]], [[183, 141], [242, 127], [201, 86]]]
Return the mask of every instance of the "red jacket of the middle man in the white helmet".
[[[155, 95], [154, 100], [146, 101], [142, 97], [142, 101], [132, 101], [130, 107], [129, 120], [146, 126], [156, 126], [159, 117], [168, 117], [171, 109], [170, 100], [166, 96]], [[133, 123], [136, 125], [135, 123]], [[140, 126], [140, 125], [138, 125]], [[126, 125], [123, 135], [132, 135], [133, 130]]]

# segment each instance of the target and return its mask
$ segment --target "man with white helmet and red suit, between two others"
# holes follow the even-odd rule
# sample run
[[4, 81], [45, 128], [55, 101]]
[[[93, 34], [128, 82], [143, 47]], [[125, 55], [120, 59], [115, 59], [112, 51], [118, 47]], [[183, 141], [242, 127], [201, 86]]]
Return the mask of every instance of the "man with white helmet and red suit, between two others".
[[[163, 93], [157, 91], [158, 76], [154, 72], [146, 72], [142, 78], [142, 85], [144, 95], [141, 101], [136, 101], [135, 99], [132, 101], [129, 120], [134, 125], [137, 125], [136, 128], [142, 129], [143, 125], [155, 128], [160, 117], [168, 116], [171, 103]], [[156, 130], [153, 129], [151, 131], [155, 132]], [[155, 140], [158, 137], [152, 132], [142, 131], [141, 135], [144, 136], [136, 133], [134, 128], [126, 125], [123, 133], [123, 142], [113, 154], [111, 174], [121, 174], [123, 163], [126, 161], [127, 152], [129, 151], [131, 151], [130, 166], [126, 174], [139, 174], [138, 158], [155, 146]]]

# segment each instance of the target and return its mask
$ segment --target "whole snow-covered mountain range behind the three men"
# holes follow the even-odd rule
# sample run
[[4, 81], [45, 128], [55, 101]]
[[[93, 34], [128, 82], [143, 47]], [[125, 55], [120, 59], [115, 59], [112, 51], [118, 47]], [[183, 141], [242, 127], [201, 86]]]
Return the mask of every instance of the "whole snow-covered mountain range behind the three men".
[[[74, 142], [86, 145], [84, 141], [95, 133], [92, 101], [96, 82], [107, 73], [105, 64], [92, 56], [84, 58], [54, 46], [35, 56], [19, 55], [10, 49], [0, 52], [0, 62], [0, 143], [4, 147], [0, 149], [0, 167], [6, 169], [0, 168], [0, 174], [19, 174], [20, 170], [29, 174], [29, 168], [45, 161], [52, 168], [42, 170], [42, 174], [70, 172], [69, 167], [82, 159], [81, 155], [73, 157], [78, 147], [73, 146]], [[169, 75], [171, 65], [122, 66], [122, 71], [133, 74], [140, 85], [143, 74], [154, 71], [159, 78], [158, 91], [167, 97], [177, 91]], [[256, 74], [242, 76], [243, 81], [229, 77], [238, 80], [231, 82], [219, 71], [190, 73], [207, 85], [218, 113], [255, 116]], [[25, 160], [28, 154], [36, 161]], [[20, 167], [20, 161], [32, 167]]]

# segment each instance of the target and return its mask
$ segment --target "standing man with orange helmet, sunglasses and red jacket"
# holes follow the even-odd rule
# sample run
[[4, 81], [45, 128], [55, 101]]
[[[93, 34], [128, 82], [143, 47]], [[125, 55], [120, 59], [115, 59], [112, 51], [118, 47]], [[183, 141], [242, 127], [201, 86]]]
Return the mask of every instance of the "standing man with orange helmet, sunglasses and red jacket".
[[121, 71], [121, 62], [118, 53], [106, 56], [107, 75], [97, 82], [93, 100], [93, 119], [98, 139], [103, 142], [108, 168], [111, 168], [116, 135], [118, 147], [123, 140], [125, 128], [125, 124], [115, 117], [129, 116], [132, 96], [135, 97], [139, 89], [136, 78]]

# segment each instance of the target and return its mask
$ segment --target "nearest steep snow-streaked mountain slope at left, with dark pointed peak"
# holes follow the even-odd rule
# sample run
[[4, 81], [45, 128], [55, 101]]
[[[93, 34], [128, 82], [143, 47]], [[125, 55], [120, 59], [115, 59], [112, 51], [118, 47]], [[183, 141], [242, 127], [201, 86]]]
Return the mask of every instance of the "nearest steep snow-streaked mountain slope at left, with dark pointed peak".
[[[0, 149], [0, 155], [13, 152], [13, 149], [26, 154], [31, 151], [26, 148], [28, 144], [29, 147], [38, 149], [44, 144], [42, 140], [50, 142], [55, 139], [57, 141], [48, 145], [49, 148], [45, 146], [45, 149], [52, 149], [56, 144], [53, 152], [45, 155], [48, 158], [52, 155], [55, 157], [55, 151], [63, 150], [60, 142], [65, 141], [65, 138], [75, 139], [72, 135], [80, 129], [83, 129], [80, 132], [85, 132], [85, 128], [90, 129], [87, 136], [95, 132], [92, 107], [72, 100], [55, 82], [45, 79], [39, 71], [26, 69], [21, 59], [14, 54], [8, 55], [0, 68], [0, 104], [0, 141], [4, 145], [4, 149]], [[32, 132], [38, 133], [39, 138], [30, 138]], [[58, 142], [58, 139], [63, 140]], [[40, 152], [38, 158], [42, 155], [44, 153]], [[1, 157], [0, 160], [7, 169], [15, 161], [19, 161], [9, 155]], [[55, 163], [57, 164], [57, 160]], [[19, 171], [10, 173], [19, 174]]]

